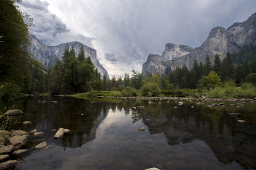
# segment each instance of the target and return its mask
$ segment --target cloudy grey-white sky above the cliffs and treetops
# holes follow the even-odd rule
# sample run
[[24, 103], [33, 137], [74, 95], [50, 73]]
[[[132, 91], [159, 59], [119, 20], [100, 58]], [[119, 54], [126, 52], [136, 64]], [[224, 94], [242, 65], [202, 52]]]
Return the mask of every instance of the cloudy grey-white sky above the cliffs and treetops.
[[23, 0], [31, 33], [46, 45], [78, 41], [97, 50], [109, 77], [141, 72], [164, 45], [200, 46], [212, 27], [227, 28], [256, 12], [255, 0]]

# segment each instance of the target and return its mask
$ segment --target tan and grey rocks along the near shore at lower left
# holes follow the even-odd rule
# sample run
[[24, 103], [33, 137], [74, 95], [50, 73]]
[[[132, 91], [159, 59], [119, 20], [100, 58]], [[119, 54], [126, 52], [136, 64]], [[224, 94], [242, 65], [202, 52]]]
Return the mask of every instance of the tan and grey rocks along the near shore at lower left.
[[[4, 116], [21, 116], [24, 114], [19, 109], [12, 109], [6, 111]], [[29, 125], [30, 121], [22, 122], [22, 125]], [[56, 130], [52, 130], [55, 132]], [[70, 130], [66, 128], [60, 128], [54, 135], [54, 138], [63, 137], [64, 134], [69, 133]], [[26, 132], [24, 130], [4, 130], [0, 129], [0, 169], [8, 169], [17, 164], [21, 158], [27, 153], [33, 150], [46, 150], [53, 148], [49, 146], [45, 141], [42, 142], [40, 137], [44, 135], [44, 132], [38, 132], [37, 129]], [[37, 141], [34, 143], [33, 141]], [[33, 143], [31, 145], [31, 143]]]

